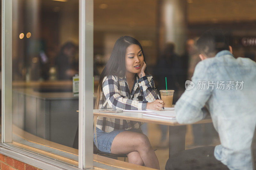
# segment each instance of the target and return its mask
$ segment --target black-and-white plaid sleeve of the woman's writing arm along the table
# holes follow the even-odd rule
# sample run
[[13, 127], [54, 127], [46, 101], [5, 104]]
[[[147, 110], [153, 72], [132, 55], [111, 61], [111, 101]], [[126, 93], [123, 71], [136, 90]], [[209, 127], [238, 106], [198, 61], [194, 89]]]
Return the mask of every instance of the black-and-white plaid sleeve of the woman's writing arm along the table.
[[[122, 82], [122, 81], [121, 81]], [[126, 95], [127, 86], [120, 84], [116, 76], [106, 76], [103, 79], [102, 91], [109, 106], [115, 110], [146, 110], [147, 101], [136, 101], [129, 99]]]

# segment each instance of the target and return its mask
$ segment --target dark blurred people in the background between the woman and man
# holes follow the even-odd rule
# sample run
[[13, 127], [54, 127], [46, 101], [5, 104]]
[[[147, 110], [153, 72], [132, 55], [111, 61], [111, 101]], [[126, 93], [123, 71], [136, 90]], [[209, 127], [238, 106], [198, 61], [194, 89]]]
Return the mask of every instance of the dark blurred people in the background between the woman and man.
[[[185, 52], [179, 55], [175, 52], [175, 44], [166, 43], [154, 69], [153, 77], [157, 89], [174, 90], [173, 104], [185, 90], [185, 81], [191, 80], [196, 64], [200, 61], [195, 40], [186, 41]], [[165, 77], [167, 82], [165, 82]]]

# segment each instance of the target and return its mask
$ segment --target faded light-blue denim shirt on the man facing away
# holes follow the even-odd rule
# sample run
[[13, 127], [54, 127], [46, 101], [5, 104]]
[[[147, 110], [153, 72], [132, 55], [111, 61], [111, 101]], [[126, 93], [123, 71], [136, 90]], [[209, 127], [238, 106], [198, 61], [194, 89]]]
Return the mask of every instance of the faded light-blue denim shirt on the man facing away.
[[206, 106], [220, 137], [215, 158], [229, 169], [252, 169], [256, 63], [249, 58], [236, 59], [223, 50], [196, 65], [192, 82], [194, 88], [186, 90], [175, 105], [177, 121], [188, 124], [202, 120]]

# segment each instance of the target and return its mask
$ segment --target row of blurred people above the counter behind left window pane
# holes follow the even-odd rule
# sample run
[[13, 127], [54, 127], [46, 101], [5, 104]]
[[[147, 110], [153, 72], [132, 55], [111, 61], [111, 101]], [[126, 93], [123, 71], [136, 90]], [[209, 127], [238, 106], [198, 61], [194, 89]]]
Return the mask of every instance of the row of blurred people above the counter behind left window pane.
[[46, 49], [39, 41], [34, 52], [28, 50], [24, 58], [13, 58], [14, 81], [72, 80], [78, 74], [78, 45], [66, 42], [60, 48]]

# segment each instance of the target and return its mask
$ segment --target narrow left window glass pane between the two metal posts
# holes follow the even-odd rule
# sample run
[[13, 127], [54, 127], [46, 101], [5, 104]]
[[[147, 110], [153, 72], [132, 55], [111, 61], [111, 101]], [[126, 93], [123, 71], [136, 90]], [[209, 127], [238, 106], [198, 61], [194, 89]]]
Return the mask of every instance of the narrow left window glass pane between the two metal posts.
[[12, 7], [13, 144], [77, 165], [78, 0]]

